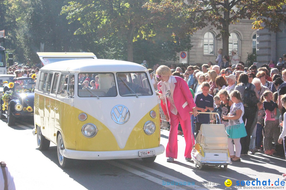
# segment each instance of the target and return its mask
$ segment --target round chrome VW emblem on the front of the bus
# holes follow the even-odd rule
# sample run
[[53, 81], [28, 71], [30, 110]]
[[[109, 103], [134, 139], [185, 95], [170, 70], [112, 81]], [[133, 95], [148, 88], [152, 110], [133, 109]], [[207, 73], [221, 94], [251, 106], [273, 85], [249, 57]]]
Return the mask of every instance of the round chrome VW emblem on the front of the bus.
[[111, 118], [118, 124], [126, 123], [130, 118], [130, 112], [124, 105], [116, 105], [112, 108]]

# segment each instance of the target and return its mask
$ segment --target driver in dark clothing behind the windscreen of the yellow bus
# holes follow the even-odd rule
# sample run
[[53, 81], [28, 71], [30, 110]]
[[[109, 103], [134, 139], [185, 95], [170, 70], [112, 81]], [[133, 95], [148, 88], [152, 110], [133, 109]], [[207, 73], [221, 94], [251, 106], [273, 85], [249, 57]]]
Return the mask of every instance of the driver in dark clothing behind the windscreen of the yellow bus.
[[[143, 88], [137, 84], [127, 81], [127, 76], [124, 73], [117, 74], [117, 83], [120, 96], [134, 93], [145, 93], [151, 95], [151, 89]], [[116, 96], [116, 86], [111, 87], [107, 93], [108, 96]]]

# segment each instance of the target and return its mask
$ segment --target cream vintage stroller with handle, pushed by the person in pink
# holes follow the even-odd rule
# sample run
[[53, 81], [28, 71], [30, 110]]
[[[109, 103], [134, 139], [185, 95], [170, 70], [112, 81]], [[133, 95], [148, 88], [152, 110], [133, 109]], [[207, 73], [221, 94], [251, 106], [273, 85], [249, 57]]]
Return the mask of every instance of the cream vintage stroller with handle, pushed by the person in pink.
[[191, 153], [195, 166], [198, 165], [199, 169], [205, 165], [223, 166], [227, 169], [227, 166], [232, 164], [227, 138], [228, 134], [223, 124], [202, 124]]

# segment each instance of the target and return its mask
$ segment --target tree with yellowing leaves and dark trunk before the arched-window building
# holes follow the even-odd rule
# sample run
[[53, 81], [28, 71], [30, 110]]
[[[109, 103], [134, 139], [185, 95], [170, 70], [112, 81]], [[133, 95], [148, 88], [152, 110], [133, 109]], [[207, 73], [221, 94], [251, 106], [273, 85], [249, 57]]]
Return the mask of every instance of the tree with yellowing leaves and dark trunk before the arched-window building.
[[[177, 17], [178, 13], [187, 23], [185, 29], [194, 31], [212, 25], [220, 31], [223, 41], [223, 54], [228, 55], [229, 25], [241, 19], [253, 20], [253, 29], [269, 28], [278, 30], [278, 23], [286, 20], [286, 0], [150, 0], [144, 7], [155, 16]], [[174, 11], [176, 10], [176, 11]], [[196, 26], [194, 26], [194, 24]]]

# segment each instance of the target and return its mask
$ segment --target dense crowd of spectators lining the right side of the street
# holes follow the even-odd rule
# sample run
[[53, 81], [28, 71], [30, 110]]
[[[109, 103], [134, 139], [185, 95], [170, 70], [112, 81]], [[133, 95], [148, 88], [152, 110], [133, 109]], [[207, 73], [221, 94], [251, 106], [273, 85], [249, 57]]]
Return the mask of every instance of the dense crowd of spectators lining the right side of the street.
[[[219, 113], [220, 122], [225, 125], [227, 132], [243, 125], [239, 129], [241, 135], [230, 138], [236, 148], [234, 155], [233, 147], [229, 147], [233, 161], [239, 162], [240, 156], [256, 153], [285, 158], [283, 116], [286, 105], [283, 97], [286, 100], [286, 54], [279, 58], [277, 64], [271, 60], [269, 64], [257, 68], [256, 65], [246, 67], [240, 62], [236, 50], [232, 50], [231, 60], [228, 56], [222, 56], [221, 52], [220, 49], [215, 61], [217, 65], [208, 62], [201, 67], [167, 66], [172, 75], [186, 81], [199, 112]], [[158, 68], [159, 65], [155, 66]], [[238, 113], [240, 116], [234, 117]], [[219, 118], [206, 115], [192, 117], [194, 136], [202, 123], [211, 122], [217, 123]], [[170, 130], [167, 122], [162, 122], [161, 128]], [[180, 124], [178, 135], [184, 135]], [[233, 145], [231, 141], [229, 144]]]

